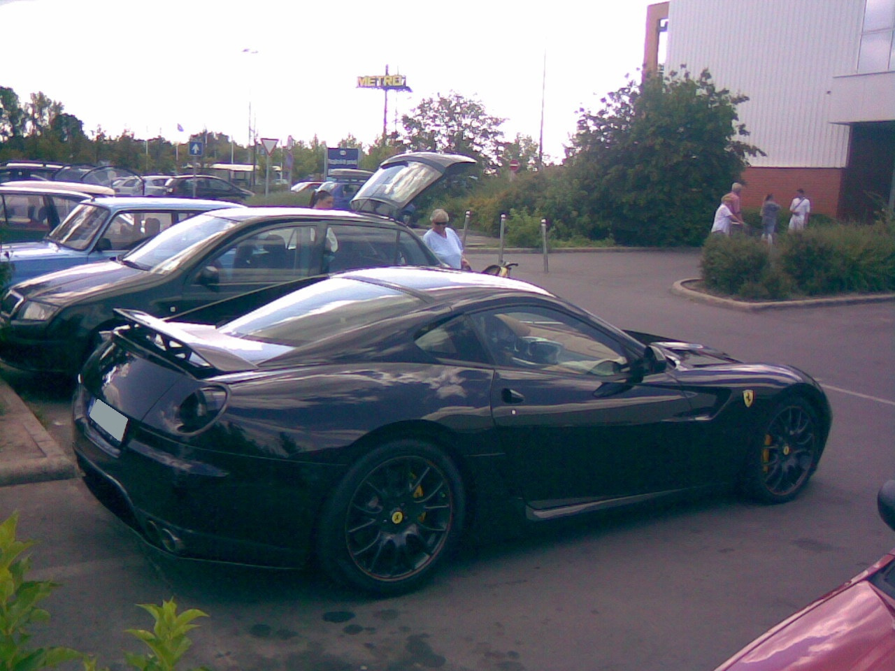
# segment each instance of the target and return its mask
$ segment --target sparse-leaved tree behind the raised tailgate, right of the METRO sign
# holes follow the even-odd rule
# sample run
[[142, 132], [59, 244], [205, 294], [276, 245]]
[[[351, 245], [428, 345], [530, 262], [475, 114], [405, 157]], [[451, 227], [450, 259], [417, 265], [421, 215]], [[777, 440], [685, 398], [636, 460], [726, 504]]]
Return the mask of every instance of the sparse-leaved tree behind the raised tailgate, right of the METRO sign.
[[504, 140], [500, 125], [506, 119], [491, 116], [473, 98], [451, 92], [438, 98], [424, 98], [409, 115], [404, 115], [401, 140], [410, 151], [438, 151], [473, 157], [484, 173], [499, 170]]

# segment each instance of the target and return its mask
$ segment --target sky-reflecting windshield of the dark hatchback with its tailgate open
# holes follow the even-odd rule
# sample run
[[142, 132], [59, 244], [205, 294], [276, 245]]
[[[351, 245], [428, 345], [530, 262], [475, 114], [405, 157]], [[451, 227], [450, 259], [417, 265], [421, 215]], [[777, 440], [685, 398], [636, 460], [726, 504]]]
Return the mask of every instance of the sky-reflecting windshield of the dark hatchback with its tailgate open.
[[210, 215], [190, 217], [125, 254], [121, 260], [135, 268], [170, 273], [192, 256], [193, 249], [212, 243], [236, 224], [232, 219]]

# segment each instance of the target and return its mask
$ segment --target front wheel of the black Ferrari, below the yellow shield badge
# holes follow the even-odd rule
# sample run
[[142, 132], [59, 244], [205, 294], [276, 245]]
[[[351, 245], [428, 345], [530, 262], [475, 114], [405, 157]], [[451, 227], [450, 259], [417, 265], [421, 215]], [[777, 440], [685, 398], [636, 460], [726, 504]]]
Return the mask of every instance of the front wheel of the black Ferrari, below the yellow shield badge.
[[746, 455], [742, 488], [763, 504], [791, 501], [808, 484], [823, 449], [817, 412], [801, 396], [776, 403]]

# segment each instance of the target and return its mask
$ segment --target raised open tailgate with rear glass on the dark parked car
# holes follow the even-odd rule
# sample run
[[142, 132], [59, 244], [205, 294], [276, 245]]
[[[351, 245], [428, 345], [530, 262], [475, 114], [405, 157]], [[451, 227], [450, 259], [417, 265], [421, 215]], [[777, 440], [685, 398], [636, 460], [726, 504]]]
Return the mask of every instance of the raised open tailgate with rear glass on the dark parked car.
[[388, 158], [354, 195], [351, 208], [398, 220], [411, 201], [432, 184], [474, 165], [470, 157], [427, 151]]

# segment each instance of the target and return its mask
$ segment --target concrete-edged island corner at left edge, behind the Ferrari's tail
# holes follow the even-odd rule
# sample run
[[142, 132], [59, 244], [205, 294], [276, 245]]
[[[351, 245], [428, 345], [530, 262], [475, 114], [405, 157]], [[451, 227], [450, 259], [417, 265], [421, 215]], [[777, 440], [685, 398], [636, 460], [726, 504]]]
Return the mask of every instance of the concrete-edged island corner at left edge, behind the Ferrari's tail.
[[28, 406], [0, 378], [0, 425], [4, 434], [26, 436], [25, 445], [0, 442], [0, 487], [44, 480], [65, 480], [78, 474], [74, 462], [47, 433]]

